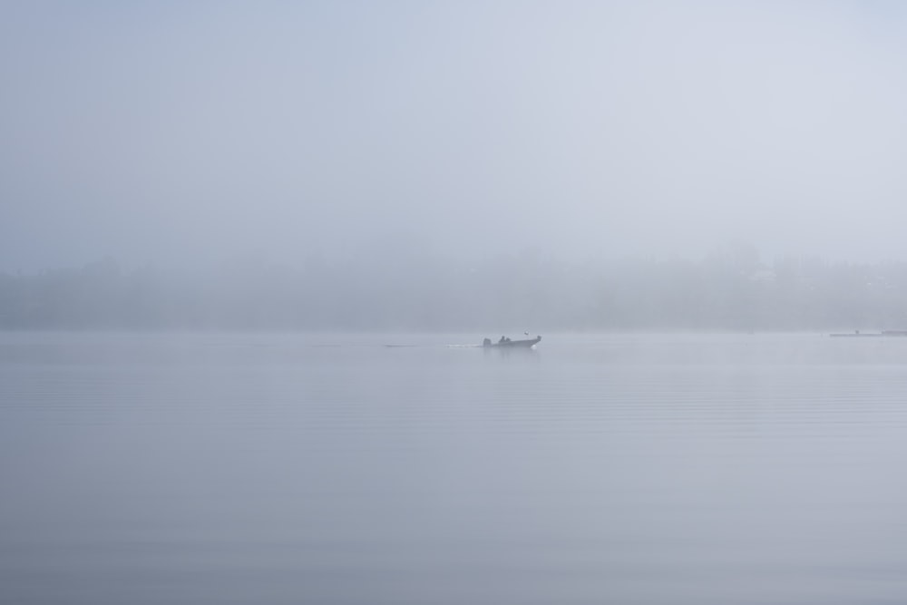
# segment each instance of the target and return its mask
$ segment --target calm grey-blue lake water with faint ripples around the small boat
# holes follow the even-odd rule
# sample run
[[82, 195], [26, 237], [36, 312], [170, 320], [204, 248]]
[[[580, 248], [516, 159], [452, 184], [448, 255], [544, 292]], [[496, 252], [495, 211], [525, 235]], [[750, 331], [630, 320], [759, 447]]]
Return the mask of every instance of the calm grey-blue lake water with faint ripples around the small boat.
[[483, 336], [0, 334], [0, 602], [907, 602], [907, 338]]

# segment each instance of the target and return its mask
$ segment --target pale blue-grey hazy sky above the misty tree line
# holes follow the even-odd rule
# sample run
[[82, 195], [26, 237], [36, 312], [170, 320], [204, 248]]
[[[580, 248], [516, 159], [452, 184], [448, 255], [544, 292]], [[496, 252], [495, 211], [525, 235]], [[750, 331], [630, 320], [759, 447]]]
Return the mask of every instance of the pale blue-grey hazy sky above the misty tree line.
[[7, 2], [0, 270], [907, 260], [896, 2]]

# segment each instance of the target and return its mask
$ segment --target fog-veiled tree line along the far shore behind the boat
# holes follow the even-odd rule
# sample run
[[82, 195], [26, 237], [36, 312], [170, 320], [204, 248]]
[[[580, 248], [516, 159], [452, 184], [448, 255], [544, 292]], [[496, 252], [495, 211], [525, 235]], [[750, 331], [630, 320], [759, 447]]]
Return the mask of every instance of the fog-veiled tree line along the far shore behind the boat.
[[431, 255], [205, 270], [105, 259], [0, 273], [3, 329], [734, 330], [907, 328], [907, 263], [704, 259], [473, 263]]

